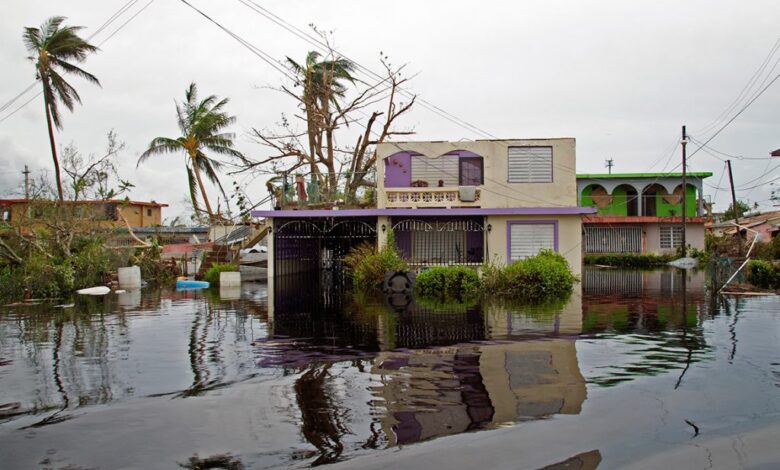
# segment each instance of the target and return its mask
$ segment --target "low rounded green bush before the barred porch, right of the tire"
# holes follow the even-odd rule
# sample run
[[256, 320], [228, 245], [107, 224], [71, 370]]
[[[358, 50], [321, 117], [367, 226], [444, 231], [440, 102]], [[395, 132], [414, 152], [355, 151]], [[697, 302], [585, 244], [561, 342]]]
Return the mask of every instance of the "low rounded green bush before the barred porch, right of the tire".
[[465, 266], [437, 266], [421, 272], [414, 292], [440, 301], [467, 302], [479, 297], [479, 274]]

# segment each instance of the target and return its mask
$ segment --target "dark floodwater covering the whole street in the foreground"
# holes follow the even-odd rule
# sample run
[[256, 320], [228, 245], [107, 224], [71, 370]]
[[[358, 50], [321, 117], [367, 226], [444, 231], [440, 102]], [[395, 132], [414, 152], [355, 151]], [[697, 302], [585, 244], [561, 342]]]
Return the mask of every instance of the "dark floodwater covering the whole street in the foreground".
[[[309, 282], [310, 280], [307, 280]], [[540, 307], [298, 286], [0, 307], [0, 467], [777, 468], [780, 298], [589, 270]]]

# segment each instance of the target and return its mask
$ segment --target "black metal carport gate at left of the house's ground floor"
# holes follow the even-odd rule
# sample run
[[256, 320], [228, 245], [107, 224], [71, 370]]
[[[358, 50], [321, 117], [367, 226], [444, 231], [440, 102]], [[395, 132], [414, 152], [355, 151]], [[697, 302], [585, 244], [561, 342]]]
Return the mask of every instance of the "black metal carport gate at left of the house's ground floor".
[[[276, 298], [328, 301], [347, 285], [344, 257], [361, 243], [376, 244], [375, 218], [301, 218], [274, 229]], [[322, 289], [325, 288], [325, 289]]]

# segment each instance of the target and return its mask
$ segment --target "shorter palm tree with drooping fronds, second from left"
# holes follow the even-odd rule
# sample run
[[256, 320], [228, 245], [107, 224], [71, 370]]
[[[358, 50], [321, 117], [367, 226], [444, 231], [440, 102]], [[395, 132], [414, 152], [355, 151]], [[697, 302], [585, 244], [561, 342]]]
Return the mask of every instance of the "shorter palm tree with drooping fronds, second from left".
[[233, 124], [236, 118], [223, 111], [228, 103], [227, 98], [218, 100], [216, 96], [211, 95], [198, 101], [198, 87], [194, 82], [187, 88], [185, 97], [186, 100], [183, 103], [176, 103], [176, 117], [182, 135], [176, 138], [155, 137], [149, 144], [149, 148], [138, 158], [138, 165], [152, 155], [183, 151], [187, 156], [187, 181], [190, 187], [192, 206], [196, 213], [200, 211], [198, 205], [198, 192], [200, 191], [209, 220], [214, 221], [216, 215], [211, 209], [201, 174], [205, 174], [209, 181], [216, 184], [223, 195], [225, 191], [222, 189], [216, 172], [221, 167], [221, 163], [208, 157], [204, 151], [208, 150], [218, 155], [228, 155], [244, 160], [244, 155], [233, 148], [235, 135], [222, 132]]

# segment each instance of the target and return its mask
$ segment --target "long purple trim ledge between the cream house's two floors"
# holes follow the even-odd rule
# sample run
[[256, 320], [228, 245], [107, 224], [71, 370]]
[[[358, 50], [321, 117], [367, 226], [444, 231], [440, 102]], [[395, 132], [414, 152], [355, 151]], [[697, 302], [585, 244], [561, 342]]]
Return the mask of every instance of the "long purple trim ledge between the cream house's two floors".
[[293, 218], [306, 217], [441, 217], [460, 215], [584, 215], [595, 214], [595, 207], [459, 207], [453, 209], [341, 209], [341, 210], [283, 210], [252, 211], [252, 217]]

